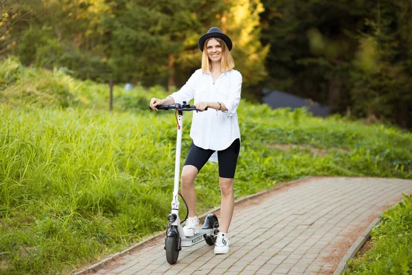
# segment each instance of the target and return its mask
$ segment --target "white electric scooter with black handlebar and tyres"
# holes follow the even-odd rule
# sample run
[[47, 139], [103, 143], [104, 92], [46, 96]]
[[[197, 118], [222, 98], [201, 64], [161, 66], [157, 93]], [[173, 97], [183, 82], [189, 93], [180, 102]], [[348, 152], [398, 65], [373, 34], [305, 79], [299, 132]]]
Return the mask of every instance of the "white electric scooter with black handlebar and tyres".
[[[216, 242], [216, 237], [218, 235], [219, 222], [215, 214], [207, 214], [205, 218], [205, 223], [203, 227], [199, 228], [198, 234], [194, 236], [185, 236], [183, 232], [183, 226], [181, 223], [186, 221], [188, 216], [187, 203], [181, 192], [179, 192], [179, 179], [180, 179], [180, 159], [181, 159], [181, 144], [182, 144], [182, 132], [183, 132], [183, 111], [201, 111], [196, 109], [195, 106], [191, 106], [183, 101], [183, 104], [176, 103], [163, 104], [156, 107], [159, 110], [176, 110], [176, 121], [177, 121], [177, 138], [176, 138], [176, 161], [174, 165], [174, 189], [173, 189], [173, 199], [172, 199], [172, 212], [168, 216], [169, 224], [166, 228], [166, 237], [165, 237], [165, 250], [166, 250], [166, 259], [170, 265], [174, 265], [179, 258], [179, 252], [182, 247], [188, 247], [200, 243], [205, 240], [208, 245], [214, 245]], [[178, 115], [179, 114], [179, 115]], [[182, 201], [185, 203], [187, 210], [186, 217], [183, 221], [179, 219], [179, 196]]]

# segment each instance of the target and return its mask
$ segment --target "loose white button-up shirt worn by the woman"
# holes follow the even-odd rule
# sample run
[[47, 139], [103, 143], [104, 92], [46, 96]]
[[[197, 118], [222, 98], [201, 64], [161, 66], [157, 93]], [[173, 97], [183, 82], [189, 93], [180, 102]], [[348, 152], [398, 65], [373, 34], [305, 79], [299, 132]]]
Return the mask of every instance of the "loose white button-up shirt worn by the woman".
[[175, 103], [189, 102], [194, 98], [195, 103], [221, 102], [225, 104], [227, 111], [209, 108], [203, 112], [192, 112], [190, 137], [196, 146], [221, 151], [228, 148], [237, 138], [240, 139], [236, 109], [240, 102], [241, 89], [242, 75], [234, 69], [223, 72], [216, 83], [213, 83], [210, 73], [203, 73], [202, 69], [198, 69], [179, 91], [170, 95]]

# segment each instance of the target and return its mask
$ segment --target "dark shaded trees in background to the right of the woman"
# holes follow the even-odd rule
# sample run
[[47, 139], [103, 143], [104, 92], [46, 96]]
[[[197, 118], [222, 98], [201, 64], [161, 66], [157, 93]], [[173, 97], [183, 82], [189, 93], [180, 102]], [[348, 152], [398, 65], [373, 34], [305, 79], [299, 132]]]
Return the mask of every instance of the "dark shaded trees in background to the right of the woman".
[[267, 86], [411, 128], [411, 1], [262, 1]]

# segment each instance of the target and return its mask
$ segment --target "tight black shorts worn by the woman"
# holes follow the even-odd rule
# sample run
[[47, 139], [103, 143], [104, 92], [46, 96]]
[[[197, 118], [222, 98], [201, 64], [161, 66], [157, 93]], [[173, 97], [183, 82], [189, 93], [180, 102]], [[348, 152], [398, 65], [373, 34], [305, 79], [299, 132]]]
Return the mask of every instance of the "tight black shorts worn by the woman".
[[[185, 165], [193, 165], [198, 172], [206, 164], [214, 150], [200, 148], [192, 142], [187, 154]], [[219, 177], [233, 179], [235, 177], [236, 163], [240, 152], [240, 140], [236, 139], [231, 146], [225, 150], [218, 151]]]

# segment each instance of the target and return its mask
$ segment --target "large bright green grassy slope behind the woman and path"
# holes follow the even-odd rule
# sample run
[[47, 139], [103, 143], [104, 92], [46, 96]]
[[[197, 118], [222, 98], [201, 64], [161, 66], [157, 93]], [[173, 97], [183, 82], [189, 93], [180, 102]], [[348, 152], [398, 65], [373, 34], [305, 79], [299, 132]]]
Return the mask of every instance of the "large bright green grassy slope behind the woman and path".
[[[0, 63], [0, 85], [0, 274], [67, 274], [164, 230], [176, 121], [148, 100], [165, 91], [115, 87], [110, 112], [108, 85], [12, 60]], [[307, 175], [412, 179], [411, 133], [245, 101], [238, 113], [236, 197]], [[195, 186], [199, 214], [220, 205], [216, 164]]]

